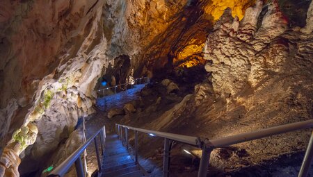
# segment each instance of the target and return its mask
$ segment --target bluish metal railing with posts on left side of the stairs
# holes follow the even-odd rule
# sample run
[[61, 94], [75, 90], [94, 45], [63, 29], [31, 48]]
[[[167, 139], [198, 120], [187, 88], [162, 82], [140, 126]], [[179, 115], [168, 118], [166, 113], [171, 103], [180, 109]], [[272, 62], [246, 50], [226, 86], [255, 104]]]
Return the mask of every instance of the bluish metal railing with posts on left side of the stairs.
[[83, 145], [79, 147], [74, 153], [72, 153], [66, 160], [64, 160], [61, 165], [58, 165], [51, 173], [48, 175], [49, 177], [61, 176], [63, 177], [67, 171], [69, 171], [70, 167], [75, 164], [76, 172], [78, 177], [86, 176], [86, 172], [83, 170], [83, 163], [81, 162], [81, 154], [84, 150], [90, 145], [91, 142], [95, 142], [95, 152], [97, 155], [97, 163], [98, 163], [98, 171], [101, 173], [102, 165], [100, 160], [99, 148], [97, 144], [97, 135], [100, 135], [100, 146], [102, 155], [104, 155], [104, 147], [105, 147], [105, 139], [106, 139], [106, 130], [105, 126], [100, 128], [92, 137], [90, 137]]

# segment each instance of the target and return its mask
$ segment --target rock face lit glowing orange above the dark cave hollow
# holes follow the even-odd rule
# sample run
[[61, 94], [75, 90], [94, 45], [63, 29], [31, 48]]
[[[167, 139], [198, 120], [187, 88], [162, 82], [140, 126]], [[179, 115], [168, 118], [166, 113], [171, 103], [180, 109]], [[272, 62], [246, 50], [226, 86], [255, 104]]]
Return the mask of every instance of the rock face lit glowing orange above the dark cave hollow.
[[[203, 65], [203, 47], [214, 22], [225, 8], [234, 10], [233, 15], [243, 17], [246, 8], [255, 1], [194, 1], [168, 22], [163, 33], [157, 35], [143, 53], [148, 70]], [[161, 49], [161, 50], [160, 50]]]

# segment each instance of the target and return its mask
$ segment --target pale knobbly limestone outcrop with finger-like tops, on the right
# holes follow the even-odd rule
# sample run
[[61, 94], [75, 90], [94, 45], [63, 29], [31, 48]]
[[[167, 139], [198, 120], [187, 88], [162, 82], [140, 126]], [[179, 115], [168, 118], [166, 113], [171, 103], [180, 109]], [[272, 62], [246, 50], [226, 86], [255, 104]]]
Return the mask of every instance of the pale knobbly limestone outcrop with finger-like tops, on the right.
[[225, 10], [204, 47], [204, 58], [213, 62], [206, 69], [212, 72], [215, 92], [234, 95], [282, 67], [288, 46], [277, 37], [286, 31], [287, 21], [278, 9], [277, 3], [269, 3], [259, 28], [262, 1], [247, 9], [241, 22], [232, 17], [230, 9]]

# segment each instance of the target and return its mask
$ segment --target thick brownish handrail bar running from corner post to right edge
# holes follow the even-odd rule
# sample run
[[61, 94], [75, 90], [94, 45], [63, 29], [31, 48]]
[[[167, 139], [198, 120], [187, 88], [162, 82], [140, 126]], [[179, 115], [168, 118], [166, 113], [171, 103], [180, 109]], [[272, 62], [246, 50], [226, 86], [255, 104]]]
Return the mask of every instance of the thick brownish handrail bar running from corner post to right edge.
[[274, 126], [271, 128], [264, 128], [261, 130], [255, 130], [248, 133], [240, 133], [237, 135], [232, 135], [228, 137], [220, 137], [215, 140], [209, 140], [208, 142], [205, 142], [207, 146], [214, 147], [214, 148], [220, 148], [225, 146], [230, 146], [233, 144], [238, 144], [241, 142], [248, 142], [251, 140], [257, 140], [263, 137], [269, 137], [272, 135], [278, 135], [282, 133], [287, 133], [294, 130], [300, 130], [304, 128], [311, 128], [313, 127], [313, 120], [307, 120], [307, 121], [298, 121], [296, 123], [291, 124], [285, 124], [282, 126]]

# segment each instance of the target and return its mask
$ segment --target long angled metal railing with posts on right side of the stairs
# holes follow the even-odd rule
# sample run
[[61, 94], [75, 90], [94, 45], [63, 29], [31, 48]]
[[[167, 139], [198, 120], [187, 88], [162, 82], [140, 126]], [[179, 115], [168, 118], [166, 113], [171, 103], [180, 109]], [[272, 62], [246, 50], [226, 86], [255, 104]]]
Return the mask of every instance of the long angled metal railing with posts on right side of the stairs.
[[[169, 175], [169, 167], [170, 167], [170, 141], [182, 142], [184, 144], [190, 144], [192, 146], [196, 146], [202, 149], [202, 155], [198, 170], [198, 177], [207, 176], [207, 170], [209, 166], [209, 159], [211, 156], [211, 152], [215, 148], [231, 146], [234, 144], [238, 144], [241, 142], [248, 142], [251, 140], [261, 139], [263, 137], [269, 137], [272, 135], [279, 135], [282, 133], [291, 132], [294, 130], [300, 130], [304, 128], [312, 128], [313, 120], [308, 121], [299, 121], [292, 124], [285, 124], [282, 126], [275, 126], [272, 128], [264, 128], [262, 130], [255, 130], [249, 133], [241, 133], [238, 135], [232, 135], [228, 137], [221, 137], [215, 140], [201, 140], [200, 137], [192, 137], [186, 135], [177, 135], [173, 133], [164, 133], [154, 130], [146, 130], [142, 128], [134, 128], [131, 126], [125, 126], [120, 124], [115, 124], [115, 129], [118, 133], [118, 136], [125, 142], [127, 148], [129, 146], [128, 140], [128, 130], [134, 130], [135, 135], [135, 162], [138, 164], [138, 132], [147, 133], [153, 136], [163, 137], [164, 138], [164, 154], [163, 154], [163, 177], [168, 177]], [[124, 128], [124, 130], [122, 130]], [[123, 135], [123, 132], [125, 135]], [[307, 146], [307, 150], [305, 152], [305, 157], [303, 159], [303, 163], [300, 168], [300, 172], [298, 177], [307, 176], [308, 170], [310, 169], [310, 163], [313, 159], [313, 132], [310, 137], [310, 142]]]

